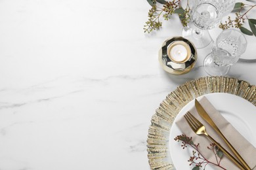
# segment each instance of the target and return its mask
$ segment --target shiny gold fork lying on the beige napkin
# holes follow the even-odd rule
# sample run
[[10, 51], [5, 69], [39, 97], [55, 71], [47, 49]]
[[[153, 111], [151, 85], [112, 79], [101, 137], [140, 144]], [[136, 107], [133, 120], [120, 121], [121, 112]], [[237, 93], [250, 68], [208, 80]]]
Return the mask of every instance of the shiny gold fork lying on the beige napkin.
[[197, 120], [190, 112], [186, 112], [184, 117], [186, 119], [186, 122], [188, 122], [188, 125], [197, 135], [205, 135], [206, 137], [208, 137], [240, 169], [245, 169], [243, 165], [238, 160], [236, 160], [236, 158], [234, 158], [234, 156], [232, 156], [227, 150], [223, 148], [223, 146], [221, 146], [221, 144], [217, 143], [217, 141], [215, 141], [210, 135], [208, 135], [208, 133], [206, 133], [205, 126], [203, 126], [203, 124], [199, 122], [199, 120]]

